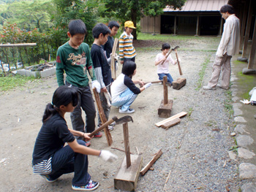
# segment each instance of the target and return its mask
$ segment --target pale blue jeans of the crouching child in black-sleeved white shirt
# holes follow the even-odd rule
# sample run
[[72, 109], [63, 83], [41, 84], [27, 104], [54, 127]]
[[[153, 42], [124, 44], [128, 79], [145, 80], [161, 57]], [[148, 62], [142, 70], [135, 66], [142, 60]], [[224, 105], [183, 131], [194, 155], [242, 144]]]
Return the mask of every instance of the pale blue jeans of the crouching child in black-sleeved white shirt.
[[138, 95], [136, 95], [135, 93], [130, 91], [129, 88], [127, 88], [123, 93], [118, 96], [117, 99], [112, 101], [112, 105], [115, 107], [121, 107], [121, 110], [127, 111], [129, 110], [129, 107], [131, 106], [133, 101], [135, 101], [137, 96]]

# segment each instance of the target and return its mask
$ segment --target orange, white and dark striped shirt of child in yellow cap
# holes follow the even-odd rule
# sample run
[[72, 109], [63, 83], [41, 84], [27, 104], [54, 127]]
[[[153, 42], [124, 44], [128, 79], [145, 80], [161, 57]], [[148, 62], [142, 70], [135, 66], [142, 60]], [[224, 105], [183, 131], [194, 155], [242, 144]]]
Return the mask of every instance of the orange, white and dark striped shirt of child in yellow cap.
[[124, 61], [124, 58], [134, 58], [136, 56], [135, 47], [132, 45], [132, 40], [132, 34], [127, 35], [125, 31], [119, 37], [119, 57], [121, 61]]

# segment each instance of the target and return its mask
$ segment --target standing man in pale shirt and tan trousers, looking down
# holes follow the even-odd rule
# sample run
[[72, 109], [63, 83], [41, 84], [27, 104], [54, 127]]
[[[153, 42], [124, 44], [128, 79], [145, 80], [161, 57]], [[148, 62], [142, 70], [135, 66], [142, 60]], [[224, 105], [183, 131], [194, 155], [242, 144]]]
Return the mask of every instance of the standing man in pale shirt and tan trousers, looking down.
[[[232, 55], [238, 53], [239, 50], [239, 19], [235, 15], [234, 8], [229, 4], [225, 4], [220, 8], [219, 12], [222, 14], [222, 18], [224, 18], [226, 22], [224, 25], [222, 39], [219, 42], [219, 47], [216, 53], [211, 80], [208, 82], [208, 85], [203, 86], [203, 89], [205, 90], [214, 90], [216, 89], [216, 86], [224, 89], [229, 88], [231, 73], [230, 61]], [[217, 85], [221, 69], [222, 81], [221, 84]]]

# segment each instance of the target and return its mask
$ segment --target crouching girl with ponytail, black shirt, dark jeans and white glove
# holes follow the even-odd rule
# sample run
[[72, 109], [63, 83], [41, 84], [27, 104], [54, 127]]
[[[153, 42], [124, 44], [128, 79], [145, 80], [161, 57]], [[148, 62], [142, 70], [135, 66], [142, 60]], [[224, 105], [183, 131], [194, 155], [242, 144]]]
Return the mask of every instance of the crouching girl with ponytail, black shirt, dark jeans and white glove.
[[42, 128], [34, 145], [33, 172], [40, 174], [48, 183], [55, 182], [62, 174], [75, 172], [72, 189], [92, 191], [98, 188], [99, 183], [91, 180], [87, 155], [97, 155], [105, 161], [113, 161], [117, 156], [107, 150], [86, 147], [82, 139], [75, 139], [75, 136], [91, 139], [89, 134], [67, 127], [64, 115], [72, 112], [77, 104], [78, 92], [73, 87], [63, 85], [53, 93], [52, 103], [45, 108]]

